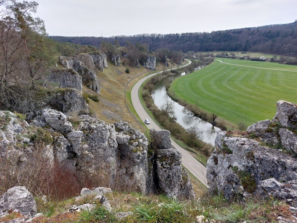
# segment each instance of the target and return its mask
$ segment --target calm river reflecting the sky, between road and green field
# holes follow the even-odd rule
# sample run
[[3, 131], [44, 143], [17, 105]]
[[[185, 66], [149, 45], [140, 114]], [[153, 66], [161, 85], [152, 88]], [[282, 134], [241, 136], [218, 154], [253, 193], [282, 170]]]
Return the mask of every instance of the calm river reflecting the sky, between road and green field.
[[[173, 76], [168, 76], [158, 81], [158, 83], [155, 85], [155, 90], [151, 95], [154, 100], [154, 103], [158, 108], [160, 108], [166, 100], [173, 101], [167, 95], [167, 92], [165, 89], [165, 83], [183, 75], [185, 75], [185, 72], [176, 74]], [[213, 127], [210, 123], [198, 117], [193, 117], [191, 115], [185, 114], [183, 112], [184, 106], [181, 106], [177, 102], [173, 101], [173, 104], [174, 104], [175, 116], [177, 117], [176, 122], [181, 126], [183, 126], [184, 128], [195, 126], [196, 128], [198, 128], [198, 130], [202, 131], [203, 141], [210, 143], [211, 145], [214, 145], [214, 140], [217, 134], [219, 133], [219, 131], [221, 130], [217, 127]]]

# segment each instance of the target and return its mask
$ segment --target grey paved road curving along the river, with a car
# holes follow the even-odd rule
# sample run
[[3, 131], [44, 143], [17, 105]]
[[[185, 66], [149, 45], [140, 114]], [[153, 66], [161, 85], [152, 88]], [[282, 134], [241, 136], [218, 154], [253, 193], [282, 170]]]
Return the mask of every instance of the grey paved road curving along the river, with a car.
[[[189, 61], [189, 60], [188, 60]], [[191, 64], [192, 62], [189, 61], [189, 64]], [[180, 67], [184, 67], [187, 66], [183, 65]], [[178, 68], [178, 67], [176, 67]], [[176, 69], [176, 68], [172, 68], [172, 69]], [[170, 69], [166, 70], [169, 71]], [[148, 129], [155, 129], [155, 130], [161, 130], [161, 128], [151, 119], [151, 117], [149, 116], [149, 114], [147, 114], [146, 110], [143, 108], [139, 96], [138, 96], [138, 91], [140, 88], [140, 85], [146, 81], [148, 78], [158, 74], [158, 73], [162, 73], [163, 71], [159, 71], [156, 73], [153, 73], [149, 76], [146, 76], [144, 78], [142, 78], [141, 80], [139, 80], [134, 87], [132, 88], [131, 91], [131, 98], [132, 98], [132, 104], [137, 112], [137, 114], [139, 115], [139, 117], [141, 118], [141, 120], [145, 120], [148, 119], [150, 121], [151, 124], [146, 125], [146, 127]], [[205, 184], [207, 186], [207, 180], [206, 180], [206, 168], [200, 164], [195, 158], [193, 158], [186, 150], [184, 150], [183, 148], [181, 148], [176, 142], [174, 142], [171, 138], [171, 143], [173, 146], [175, 146], [182, 154], [182, 164], [196, 177], [198, 178], [203, 184]]]

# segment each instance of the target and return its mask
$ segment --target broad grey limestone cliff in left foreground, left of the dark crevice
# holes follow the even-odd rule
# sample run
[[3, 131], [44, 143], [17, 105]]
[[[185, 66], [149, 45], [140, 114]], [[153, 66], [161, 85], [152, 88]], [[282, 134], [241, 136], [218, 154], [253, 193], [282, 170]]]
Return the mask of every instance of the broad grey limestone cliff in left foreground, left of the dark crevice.
[[55, 160], [78, 173], [96, 173], [97, 178], [109, 179], [111, 184], [121, 182], [127, 189], [150, 191], [148, 140], [139, 130], [128, 123], [108, 124], [89, 115], [76, 117], [78, 124], [73, 126], [71, 116], [55, 109], [45, 108], [40, 113], [29, 125], [11, 112], [0, 112], [0, 120], [7, 119], [6, 130], [0, 129], [0, 159], [9, 153], [18, 157], [21, 165], [34, 147], [34, 142], [22, 135], [34, 134], [34, 126], [46, 127], [44, 130], [53, 138], [45, 145], [49, 163]]

